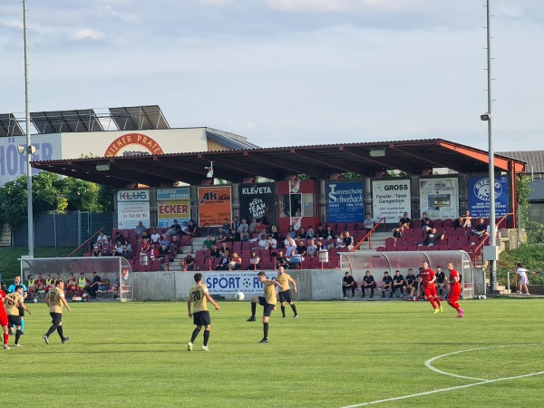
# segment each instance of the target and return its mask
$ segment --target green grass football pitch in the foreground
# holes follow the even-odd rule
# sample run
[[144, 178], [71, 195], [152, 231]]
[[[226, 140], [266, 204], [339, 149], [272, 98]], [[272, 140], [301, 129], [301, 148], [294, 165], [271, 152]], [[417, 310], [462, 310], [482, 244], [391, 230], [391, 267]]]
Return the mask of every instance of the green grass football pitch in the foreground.
[[[0, 350], [3, 401], [342, 407], [544, 372], [542, 299], [464, 301], [464, 319], [447, 305], [442, 315], [432, 315], [426, 302], [299, 302], [298, 319], [273, 313], [267, 345], [257, 343], [262, 324], [246, 322], [248, 302], [219, 305], [220, 312], [210, 311], [211, 351], [200, 350], [199, 335], [189, 353], [193, 325], [182, 302], [72, 304], [73, 312], [63, 318], [64, 335], [71, 337], [65, 345], [56, 334], [51, 345], [44, 344], [47, 307], [29, 304], [33, 314], [26, 316], [24, 346]], [[424, 365], [469, 349], [481, 350], [444, 356], [432, 366], [475, 379]], [[378, 405], [541, 406], [543, 387], [539, 374]]]

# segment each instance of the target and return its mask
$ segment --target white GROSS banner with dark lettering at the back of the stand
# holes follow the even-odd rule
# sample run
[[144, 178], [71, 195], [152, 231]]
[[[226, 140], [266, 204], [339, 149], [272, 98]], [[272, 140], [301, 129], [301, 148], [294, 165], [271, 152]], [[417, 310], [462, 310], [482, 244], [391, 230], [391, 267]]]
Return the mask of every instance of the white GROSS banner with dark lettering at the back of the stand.
[[410, 180], [374, 180], [372, 182], [372, 207], [374, 221], [385, 218], [385, 222], [396, 224], [406, 211], [410, 214]]

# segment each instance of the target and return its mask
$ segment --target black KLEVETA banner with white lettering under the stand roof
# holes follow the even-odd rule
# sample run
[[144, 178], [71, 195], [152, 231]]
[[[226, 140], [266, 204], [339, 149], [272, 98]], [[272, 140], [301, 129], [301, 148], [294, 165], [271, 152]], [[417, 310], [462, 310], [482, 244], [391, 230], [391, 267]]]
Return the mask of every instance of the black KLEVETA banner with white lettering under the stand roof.
[[277, 224], [276, 183], [240, 184], [240, 217], [250, 222], [266, 218], [268, 224]]

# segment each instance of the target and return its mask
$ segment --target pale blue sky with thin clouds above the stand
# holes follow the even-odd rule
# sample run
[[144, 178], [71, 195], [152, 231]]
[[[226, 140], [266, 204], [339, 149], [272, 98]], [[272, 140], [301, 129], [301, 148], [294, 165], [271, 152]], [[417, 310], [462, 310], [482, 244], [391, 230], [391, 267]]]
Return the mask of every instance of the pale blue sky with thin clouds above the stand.
[[[442, 138], [488, 150], [485, 0], [27, 1], [30, 111], [158, 104], [262, 147]], [[492, 0], [494, 151], [541, 150], [544, 5]], [[23, 5], [0, 113], [24, 116]]]

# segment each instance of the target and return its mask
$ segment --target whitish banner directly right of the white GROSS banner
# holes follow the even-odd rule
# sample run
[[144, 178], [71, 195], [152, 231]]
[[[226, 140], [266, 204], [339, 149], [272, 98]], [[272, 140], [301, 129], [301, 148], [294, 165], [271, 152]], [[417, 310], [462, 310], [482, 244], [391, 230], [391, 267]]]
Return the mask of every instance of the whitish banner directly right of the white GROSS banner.
[[[420, 179], [420, 209], [422, 213], [426, 212], [430, 219], [459, 217], [457, 178]], [[414, 215], [413, 218], [418, 217]]]

